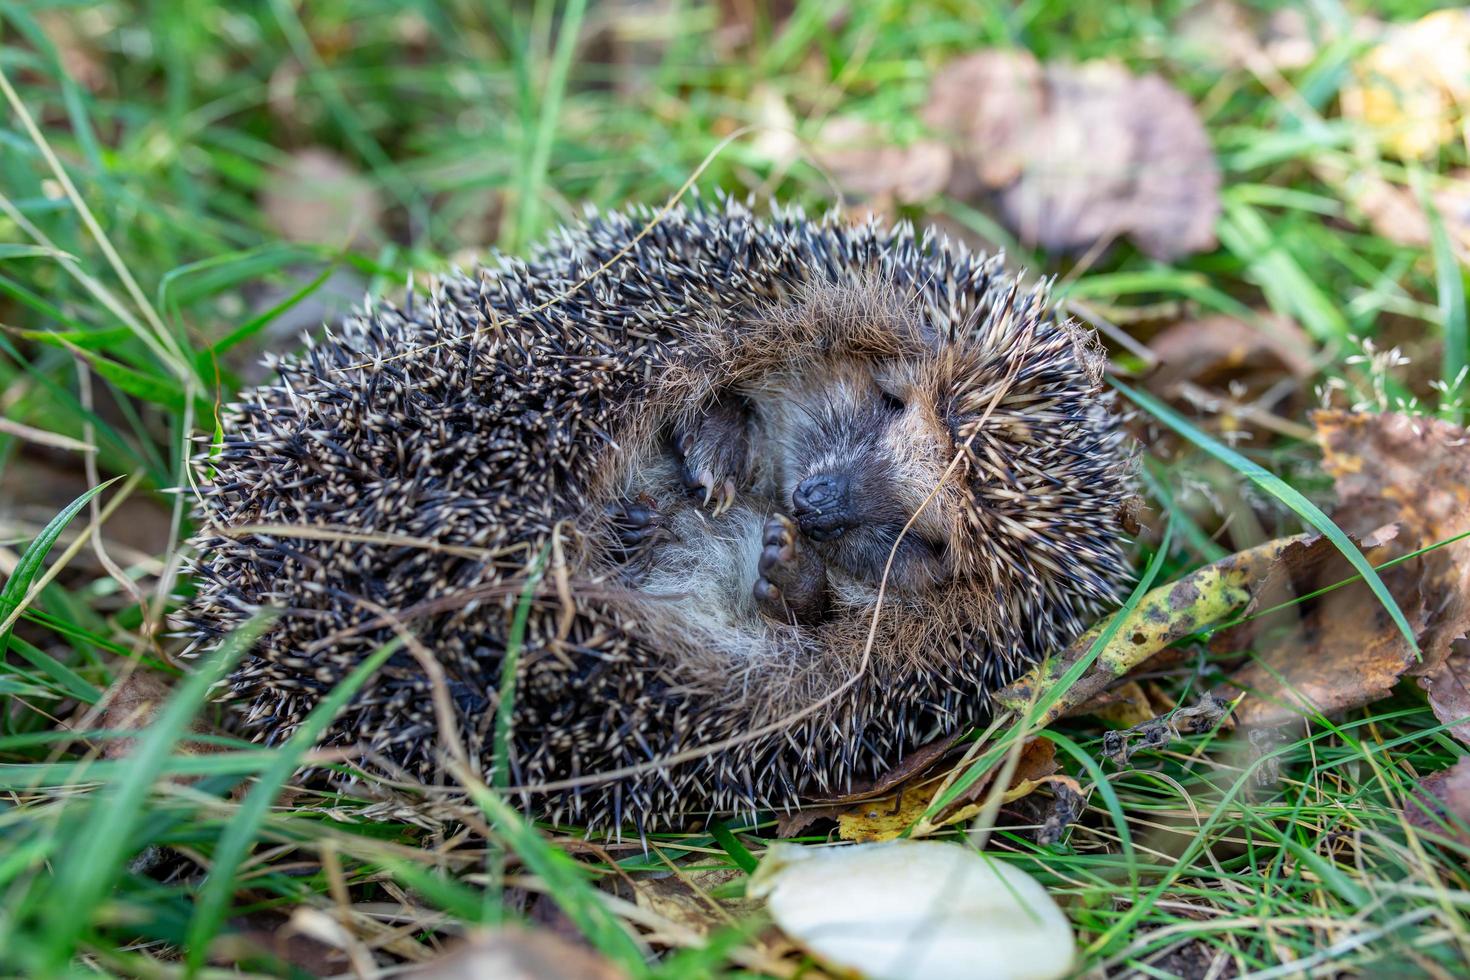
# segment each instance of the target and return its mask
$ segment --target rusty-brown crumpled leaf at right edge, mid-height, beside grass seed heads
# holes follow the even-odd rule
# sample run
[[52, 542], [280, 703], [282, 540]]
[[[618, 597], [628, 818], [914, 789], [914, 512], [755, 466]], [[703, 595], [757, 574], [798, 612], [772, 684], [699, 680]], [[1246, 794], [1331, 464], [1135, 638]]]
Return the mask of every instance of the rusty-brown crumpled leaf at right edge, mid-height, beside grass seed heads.
[[[1347, 530], [1396, 523], [1388, 557], [1401, 557], [1470, 532], [1470, 433], [1423, 416], [1319, 411], [1313, 416], [1323, 467]], [[1470, 539], [1396, 566], [1395, 597], [1417, 588], [1427, 602], [1411, 673], [1429, 692], [1435, 717], [1470, 742]], [[1413, 597], [1401, 597], [1401, 604]]]

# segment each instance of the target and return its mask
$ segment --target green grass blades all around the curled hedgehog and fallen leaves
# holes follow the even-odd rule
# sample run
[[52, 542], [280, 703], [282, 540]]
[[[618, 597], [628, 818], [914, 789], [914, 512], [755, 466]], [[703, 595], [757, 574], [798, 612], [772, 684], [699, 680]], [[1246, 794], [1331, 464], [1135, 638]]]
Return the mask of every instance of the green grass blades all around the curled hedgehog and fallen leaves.
[[[1430, 6], [1374, 4], [1389, 19]], [[1435, 216], [1427, 248], [1395, 244], [1324, 175], [1370, 167], [1423, 197], [1436, 173], [1466, 165], [1464, 150], [1433, 167], [1363, 157], [1369, 134], [1336, 112], [1355, 41], [1320, 46], [1286, 73], [1283, 98], [1279, 85], [1176, 44], [1182, 3], [881, 0], [835, 21], [831, 7], [803, 0], [784, 21], [760, 15], [748, 44], [731, 48], [716, 6], [672, 3], [663, 21], [639, 22], [644, 34], [625, 34], [617, 60], [607, 44], [572, 44], [572, 29], [585, 41], [616, 21], [616, 7], [579, 0], [197, 0], [187, 15], [162, 1], [0, 0], [0, 413], [94, 445], [97, 469], [90, 479], [75, 450], [0, 432], [0, 558], [21, 569], [0, 594], [0, 621], [22, 610], [13, 635], [0, 627], [0, 974], [219, 971], [209, 954], [225, 949], [222, 934], [301, 908], [338, 915], [359, 954], [387, 965], [522, 915], [528, 887], [629, 974], [757, 971], [759, 921], [654, 954], [592, 886], [670, 862], [744, 876], [773, 824], [595, 854], [563, 846], [575, 829], [537, 829], [494, 786], [475, 785], [467, 802], [435, 804], [453, 823], [431, 830], [353, 796], [278, 796], [306, 743], [266, 752], [213, 739], [216, 752], [185, 752], [207, 673], [178, 682], [126, 763], [107, 752], [126, 733], [97, 704], [134, 670], [179, 676], [160, 616], [188, 589], [176, 561], [188, 514], [187, 494], [168, 491], [188, 485], [185, 450], [216, 435], [216, 406], [256, 359], [294, 345], [282, 323], [335, 295], [337, 281], [357, 301], [397, 292], [410, 273], [422, 282], [469, 250], [523, 248], [584, 203], [660, 204], [722, 138], [760, 122], [763, 100], [785, 100], [803, 137], [828, 115], [858, 115], [913, 140], [933, 71], [976, 47], [1160, 72], [1205, 107], [1225, 167], [1220, 245], [1163, 264], [1120, 244], [1066, 279], [1066, 298], [1144, 341], [1182, 317], [1292, 317], [1320, 356], [1319, 375], [1280, 403], [1295, 422], [1314, 385], [1332, 381], [1374, 406], [1416, 398], [1423, 411], [1463, 416], [1464, 270], [1444, 222]], [[1338, 0], [1301, 10], [1319, 26], [1363, 13]], [[773, 166], [757, 135], [716, 153], [698, 190], [832, 203], [819, 167]], [[382, 201], [351, 248], [332, 229], [285, 244], [272, 226], [263, 200], [303, 148], [332, 151]], [[1008, 238], [961, 201], [910, 216]], [[1033, 275], [1073, 272], [1061, 256], [1011, 254]], [[1413, 364], [1366, 376], [1348, 363], [1366, 339], [1401, 345]], [[1160, 407], [1147, 394], [1139, 404]], [[1161, 545], [1166, 522], [1154, 522], [1139, 569], [1169, 582], [1222, 545], [1319, 523], [1330, 498], [1311, 445], [1257, 433], [1225, 450], [1219, 419], [1177, 413], [1164, 408], [1155, 429], [1186, 439], [1166, 441], [1167, 458], [1145, 467], [1175, 533]], [[43, 473], [60, 473], [63, 489], [26, 497]], [[81, 500], [118, 478], [129, 482]], [[1272, 500], [1257, 500], [1252, 480]], [[47, 525], [71, 500], [53, 535]], [[101, 536], [126, 585], [84, 539], [106, 505], [116, 516]], [[156, 532], [147, 545], [122, 526], [134, 522]], [[1198, 670], [1191, 661], [1157, 683], [1186, 699], [1217, 676], [1201, 655]], [[1261, 976], [1327, 962], [1374, 976], [1463, 968], [1470, 848], [1416, 836], [1401, 811], [1417, 779], [1466, 749], [1411, 685], [1276, 742], [1186, 736], [1123, 768], [1097, 761], [1102, 735], [1091, 720], [1048, 733], [1066, 771], [1094, 788], [1063, 842], [1036, 845], [1004, 820], [989, 836], [1064, 902], [1085, 968], [1169, 976], [1180, 948]], [[407, 921], [373, 918], [385, 907]], [[291, 971], [266, 954], [234, 964]]]

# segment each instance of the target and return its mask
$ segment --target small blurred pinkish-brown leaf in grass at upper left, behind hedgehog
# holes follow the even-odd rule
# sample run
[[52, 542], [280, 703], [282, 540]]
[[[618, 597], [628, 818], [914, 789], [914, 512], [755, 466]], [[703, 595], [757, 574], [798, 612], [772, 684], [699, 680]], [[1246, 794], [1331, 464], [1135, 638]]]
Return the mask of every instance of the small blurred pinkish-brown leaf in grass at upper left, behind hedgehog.
[[290, 241], [363, 248], [372, 244], [384, 207], [378, 187], [350, 163], [306, 148], [268, 176], [260, 210]]

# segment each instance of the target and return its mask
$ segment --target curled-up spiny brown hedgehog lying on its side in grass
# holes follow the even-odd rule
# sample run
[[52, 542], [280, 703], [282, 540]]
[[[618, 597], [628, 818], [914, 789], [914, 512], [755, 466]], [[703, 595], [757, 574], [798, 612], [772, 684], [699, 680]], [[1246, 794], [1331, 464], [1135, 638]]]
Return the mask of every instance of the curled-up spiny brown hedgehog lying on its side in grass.
[[406, 627], [442, 676], [398, 651], [329, 741], [444, 783], [459, 739], [557, 823], [842, 793], [1129, 574], [1095, 339], [907, 228], [594, 216], [276, 370], [209, 460], [194, 648], [278, 610], [232, 674], [273, 742]]

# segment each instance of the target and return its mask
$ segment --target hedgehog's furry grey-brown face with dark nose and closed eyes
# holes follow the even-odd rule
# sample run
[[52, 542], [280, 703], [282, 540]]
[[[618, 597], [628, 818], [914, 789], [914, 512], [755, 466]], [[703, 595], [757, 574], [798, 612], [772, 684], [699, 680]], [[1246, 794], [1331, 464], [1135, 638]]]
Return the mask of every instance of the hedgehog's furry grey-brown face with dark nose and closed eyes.
[[941, 486], [953, 450], [919, 381], [904, 361], [841, 359], [757, 401], [781, 507], [803, 536], [829, 564], [873, 585], [892, 554], [888, 582], [903, 592], [953, 576], [956, 501]]

